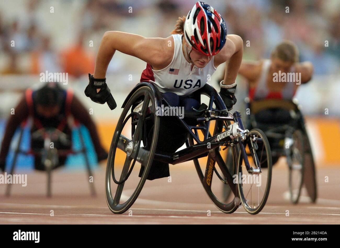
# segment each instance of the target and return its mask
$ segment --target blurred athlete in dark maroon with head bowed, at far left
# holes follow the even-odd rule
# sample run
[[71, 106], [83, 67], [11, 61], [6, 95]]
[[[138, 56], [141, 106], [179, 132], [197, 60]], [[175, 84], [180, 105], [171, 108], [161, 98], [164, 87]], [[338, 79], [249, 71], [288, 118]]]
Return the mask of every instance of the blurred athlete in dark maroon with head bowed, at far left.
[[[98, 161], [106, 159], [107, 152], [100, 144], [96, 125], [83, 104], [73, 95], [72, 91], [61, 88], [57, 83], [47, 83], [40, 89], [26, 90], [23, 98], [15, 107], [15, 114], [8, 118], [1, 144], [0, 171], [4, 171], [5, 160], [15, 130], [21, 123], [26, 121], [28, 117], [33, 117], [31, 133], [40, 128], [56, 128], [70, 138], [71, 129], [67, 125], [69, 115], [73, 116], [76, 121], [84, 124], [89, 130]], [[31, 137], [31, 148], [43, 148], [42, 142], [32, 139]], [[57, 148], [71, 149], [71, 146]], [[63, 165], [65, 160], [66, 158], [59, 158], [60, 165]], [[35, 168], [44, 168], [39, 157], [35, 157]]]

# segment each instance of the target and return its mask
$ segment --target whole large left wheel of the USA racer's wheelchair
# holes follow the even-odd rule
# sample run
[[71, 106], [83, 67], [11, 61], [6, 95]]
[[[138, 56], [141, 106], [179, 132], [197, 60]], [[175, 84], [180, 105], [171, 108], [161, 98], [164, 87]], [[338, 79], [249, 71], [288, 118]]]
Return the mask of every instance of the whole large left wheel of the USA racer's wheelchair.
[[[158, 140], [160, 120], [155, 110], [159, 106], [159, 99], [152, 84], [139, 83], [123, 103], [105, 174], [106, 202], [113, 213], [128, 210], [147, 180]], [[114, 194], [111, 178], [116, 185]]]

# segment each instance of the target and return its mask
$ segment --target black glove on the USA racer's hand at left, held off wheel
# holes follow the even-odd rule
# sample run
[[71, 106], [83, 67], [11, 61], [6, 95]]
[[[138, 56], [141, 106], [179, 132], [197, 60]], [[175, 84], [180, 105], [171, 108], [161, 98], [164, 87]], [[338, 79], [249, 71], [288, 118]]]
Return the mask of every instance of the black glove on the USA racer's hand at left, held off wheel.
[[[93, 75], [88, 74], [89, 83], [85, 88], [85, 96], [89, 97], [92, 101], [100, 104], [107, 103], [111, 110], [117, 107], [115, 99], [111, 94], [110, 89], [107, 87], [106, 78], [98, 79]], [[97, 93], [97, 89], [100, 91]]]

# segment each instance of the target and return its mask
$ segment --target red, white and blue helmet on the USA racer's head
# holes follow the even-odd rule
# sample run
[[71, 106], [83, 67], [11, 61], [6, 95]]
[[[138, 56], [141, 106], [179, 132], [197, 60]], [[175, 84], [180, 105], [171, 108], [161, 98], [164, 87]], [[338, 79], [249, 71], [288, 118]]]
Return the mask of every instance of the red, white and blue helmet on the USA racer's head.
[[198, 1], [184, 23], [184, 38], [189, 47], [206, 56], [219, 53], [225, 44], [227, 27], [221, 15], [205, 2]]

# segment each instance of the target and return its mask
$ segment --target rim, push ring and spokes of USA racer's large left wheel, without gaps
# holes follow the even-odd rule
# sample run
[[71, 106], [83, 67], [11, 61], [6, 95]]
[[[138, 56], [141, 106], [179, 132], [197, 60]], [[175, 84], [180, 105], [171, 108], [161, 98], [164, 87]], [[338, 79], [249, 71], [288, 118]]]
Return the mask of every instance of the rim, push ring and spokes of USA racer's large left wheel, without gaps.
[[[135, 102], [140, 98], [143, 99], [142, 108], [141, 108], [140, 113], [136, 113], [134, 112], [134, 110], [131, 110], [131, 109], [134, 106]], [[109, 209], [113, 213], [123, 213], [132, 206], [132, 204], [136, 201], [138, 195], [140, 194], [142, 187], [144, 186], [146, 179], [148, 177], [151, 164], [153, 161], [153, 157], [155, 154], [157, 140], [158, 140], [159, 117], [157, 115], [153, 115], [154, 122], [153, 122], [153, 131], [152, 131], [152, 141], [150, 142], [148, 156], [144, 160], [145, 162], [143, 162], [143, 166], [145, 168], [141, 174], [140, 180], [130, 197], [126, 196], [125, 194], [122, 194], [124, 185], [126, 181], [129, 181], [129, 178], [131, 177], [130, 174], [137, 160], [138, 151], [141, 145], [142, 127], [144, 125], [144, 121], [146, 119], [148, 109], [153, 110], [153, 111], [156, 109], [154, 91], [149, 86], [141, 86], [132, 94], [132, 96], [130, 96], [129, 100], [126, 102], [123, 108], [123, 111], [121, 113], [121, 116], [119, 118], [118, 124], [116, 126], [115, 133], [112, 138], [112, 142], [111, 142], [111, 146], [109, 150], [107, 166], [106, 166], [106, 174], [105, 174], [106, 202], [107, 202]], [[129, 113], [130, 111], [131, 113]], [[134, 117], [137, 117], [137, 118], [135, 120], [132, 120]], [[132, 122], [128, 121], [130, 119], [132, 120]], [[114, 178], [115, 177], [114, 169], [115, 169], [115, 162], [116, 162], [115, 161], [116, 150], [117, 149], [122, 150], [118, 148], [118, 142], [120, 141], [120, 139], [122, 139], [122, 137], [123, 139], [125, 137], [125, 136], [121, 136], [121, 133], [126, 124], [127, 125], [132, 124], [131, 142], [133, 144], [131, 144], [131, 142], [128, 142], [128, 144], [126, 144], [125, 146], [125, 149], [123, 150], [126, 157], [125, 157], [123, 168], [121, 169], [120, 178], [117, 180], [117, 178]], [[137, 137], [134, 137], [134, 136], [137, 136]], [[130, 144], [130, 147], [129, 147], [129, 144]], [[134, 151], [134, 154], [132, 151]], [[118, 183], [117, 189], [114, 195], [112, 194], [112, 189], [111, 189], [111, 178], [112, 177], [114, 179], [115, 184]], [[121, 201], [122, 195], [123, 195], [123, 199], [126, 199], [126, 198], [128, 199], [126, 201], [123, 200], [124, 202], [121, 203], [120, 201]]]

